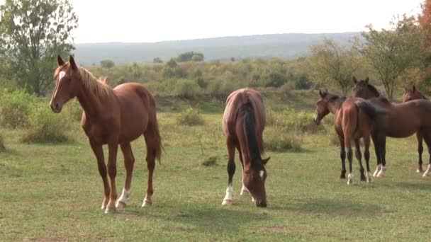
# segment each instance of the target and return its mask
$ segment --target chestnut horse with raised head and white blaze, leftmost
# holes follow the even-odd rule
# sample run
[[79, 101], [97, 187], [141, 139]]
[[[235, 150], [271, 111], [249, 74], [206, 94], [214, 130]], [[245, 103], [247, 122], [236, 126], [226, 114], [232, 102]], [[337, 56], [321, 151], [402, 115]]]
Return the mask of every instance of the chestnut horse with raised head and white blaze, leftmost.
[[[148, 183], [147, 193], [142, 207], [152, 204], [152, 175], [155, 159], [160, 159], [162, 143], [156, 118], [156, 102], [150, 91], [139, 83], [124, 83], [116, 88], [96, 79], [89, 71], [78, 67], [73, 57], [64, 62], [57, 56], [58, 67], [55, 70], [55, 89], [50, 106], [52, 111], [60, 113], [68, 100], [77, 97], [84, 109], [81, 125], [89, 137], [103, 180], [105, 197], [102, 209], [105, 213], [115, 212], [116, 207], [125, 207], [130, 196], [133, 164], [135, 157], [130, 142], [145, 137], [147, 144]], [[108, 144], [108, 172], [103, 158], [103, 144]], [[125, 185], [121, 197], [117, 200], [116, 158], [118, 144], [124, 155]], [[108, 177], [111, 180], [111, 187]], [[117, 201], [116, 201], [117, 200]]]

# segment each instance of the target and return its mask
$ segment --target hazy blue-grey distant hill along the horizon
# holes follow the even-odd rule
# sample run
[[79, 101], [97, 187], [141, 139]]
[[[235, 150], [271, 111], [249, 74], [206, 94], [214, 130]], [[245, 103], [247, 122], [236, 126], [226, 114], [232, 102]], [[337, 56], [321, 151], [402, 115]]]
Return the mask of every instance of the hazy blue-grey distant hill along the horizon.
[[155, 57], [160, 57], [165, 62], [171, 57], [177, 57], [178, 54], [188, 51], [203, 52], [205, 60], [224, 60], [230, 57], [291, 59], [308, 54], [308, 47], [323, 38], [332, 38], [337, 42], [346, 43], [354, 36], [360, 37], [360, 33], [288, 33], [163, 42], [89, 43], [75, 45], [74, 54], [79, 59], [79, 63], [85, 65], [99, 64], [102, 59], [111, 59], [116, 64], [152, 62]]

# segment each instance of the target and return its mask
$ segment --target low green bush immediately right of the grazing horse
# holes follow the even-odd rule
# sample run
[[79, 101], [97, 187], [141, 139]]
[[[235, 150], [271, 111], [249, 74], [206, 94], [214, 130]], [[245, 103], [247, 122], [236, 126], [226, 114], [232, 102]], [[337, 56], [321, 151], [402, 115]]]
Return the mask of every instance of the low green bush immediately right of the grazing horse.
[[264, 146], [269, 151], [301, 151], [303, 139], [294, 132], [285, 132], [279, 128], [266, 129]]

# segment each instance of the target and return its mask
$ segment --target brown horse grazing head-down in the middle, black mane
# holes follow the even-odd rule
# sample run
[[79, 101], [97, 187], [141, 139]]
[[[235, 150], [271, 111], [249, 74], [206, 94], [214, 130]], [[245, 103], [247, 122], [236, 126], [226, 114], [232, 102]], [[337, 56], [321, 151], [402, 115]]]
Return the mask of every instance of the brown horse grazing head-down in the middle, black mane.
[[249, 88], [230, 93], [223, 113], [223, 132], [228, 146], [228, 189], [224, 204], [232, 204], [235, 174], [235, 149], [242, 164], [242, 191], [250, 192], [257, 207], [267, 207], [265, 165], [269, 158], [262, 159], [264, 152], [262, 133], [265, 127], [265, 108], [262, 96]]

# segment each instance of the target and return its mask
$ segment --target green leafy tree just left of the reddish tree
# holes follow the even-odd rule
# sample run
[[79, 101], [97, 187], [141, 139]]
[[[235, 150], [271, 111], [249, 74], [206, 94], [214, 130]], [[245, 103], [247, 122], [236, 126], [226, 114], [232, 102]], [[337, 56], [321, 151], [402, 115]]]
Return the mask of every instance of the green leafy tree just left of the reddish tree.
[[395, 21], [391, 21], [389, 30], [377, 31], [367, 25], [369, 31], [362, 33], [365, 39], [362, 54], [376, 69], [390, 100], [398, 77], [408, 69], [420, 67], [424, 57], [418, 20], [404, 15], [403, 19], [397, 17]]

